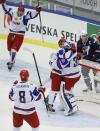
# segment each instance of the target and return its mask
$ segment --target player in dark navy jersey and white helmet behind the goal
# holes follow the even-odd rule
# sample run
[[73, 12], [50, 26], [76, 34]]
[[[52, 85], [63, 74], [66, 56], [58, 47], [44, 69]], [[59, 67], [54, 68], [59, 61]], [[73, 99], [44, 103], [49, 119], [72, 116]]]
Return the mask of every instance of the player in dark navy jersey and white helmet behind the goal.
[[[77, 42], [77, 52], [82, 54], [82, 58], [86, 60], [93, 61], [95, 50], [97, 49], [97, 43], [91, 37], [88, 37], [88, 34], [83, 30], [80, 35], [80, 39]], [[86, 83], [87, 89], [83, 90], [83, 92], [92, 91], [92, 82], [89, 76], [90, 69], [86, 67], [81, 67], [81, 72], [84, 77], [84, 81]], [[93, 71], [95, 75], [96, 72]], [[97, 86], [97, 82], [94, 80], [95, 87]]]

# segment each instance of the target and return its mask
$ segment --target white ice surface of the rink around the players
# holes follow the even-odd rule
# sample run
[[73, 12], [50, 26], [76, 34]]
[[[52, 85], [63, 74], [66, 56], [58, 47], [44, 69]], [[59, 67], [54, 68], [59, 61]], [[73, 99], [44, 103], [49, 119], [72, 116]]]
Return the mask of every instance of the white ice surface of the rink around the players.
[[[9, 53], [6, 49], [6, 41], [0, 41], [0, 131], [12, 130], [12, 110], [13, 103], [8, 99], [8, 93], [13, 81], [19, 79], [19, 71], [28, 69], [30, 72], [30, 81], [39, 84], [36, 68], [32, 54], [24, 48], [29, 48], [35, 52], [36, 60], [39, 66], [42, 83], [50, 75], [48, 59], [52, 49], [30, 44], [23, 44], [20, 52], [16, 57], [16, 64], [11, 72], [7, 70], [6, 63], [9, 61]], [[77, 84], [77, 89], [81, 88], [83, 81]], [[84, 84], [83, 84], [84, 86]], [[50, 90], [50, 82], [45, 87], [47, 92]], [[78, 91], [78, 90], [77, 90]], [[59, 97], [57, 97], [58, 99]], [[79, 112], [73, 116], [65, 117], [62, 111], [58, 110], [59, 100], [55, 102], [56, 114], [48, 114], [43, 102], [36, 103], [37, 111], [40, 118], [40, 131], [67, 131], [67, 128], [100, 128], [100, 105], [86, 102], [79, 102]], [[68, 130], [70, 130], [68, 129]], [[27, 123], [22, 127], [22, 131], [30, 131]]]

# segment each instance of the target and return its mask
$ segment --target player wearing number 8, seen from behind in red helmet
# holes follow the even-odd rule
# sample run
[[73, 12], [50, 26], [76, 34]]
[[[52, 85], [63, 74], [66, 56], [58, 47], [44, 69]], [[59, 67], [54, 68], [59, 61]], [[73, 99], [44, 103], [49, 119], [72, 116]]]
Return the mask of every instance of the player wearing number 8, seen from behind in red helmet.
[[13, 131], [20, 131], [25, 120], [32, 128], [32, 131], [39, 131], [39, 118], [34, 106], [34, 101], [38, 101], [44, 93], [45, 88], [37, 88], [28, 81], [28, 70], [20, 71], [21, 81], [15, 81], [9, 98], [14, 101], [13, 108]]

